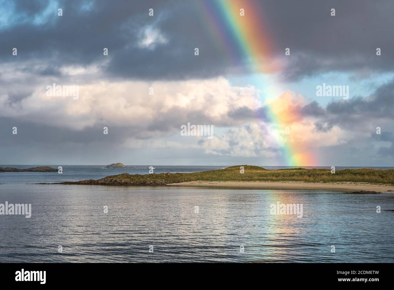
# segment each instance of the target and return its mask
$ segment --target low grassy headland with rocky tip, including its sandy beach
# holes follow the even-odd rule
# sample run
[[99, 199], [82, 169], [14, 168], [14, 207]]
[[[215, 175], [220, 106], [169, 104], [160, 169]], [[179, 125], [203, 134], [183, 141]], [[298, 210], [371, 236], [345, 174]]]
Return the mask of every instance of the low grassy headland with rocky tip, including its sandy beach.
[[[241, 168], [241, 170], [240, 170]], [[63, 181], [68, 185], [173, 185], [238, 187], [251, 189], [305, 189], [388, 192], [394, 191], [394, 169], [345, 169], [332, 174], [329, 169], [291, 168], [269, 171], [254, 165], [231, 166], [197, 172], [161, 172], [106, 176], [97, 180]]]

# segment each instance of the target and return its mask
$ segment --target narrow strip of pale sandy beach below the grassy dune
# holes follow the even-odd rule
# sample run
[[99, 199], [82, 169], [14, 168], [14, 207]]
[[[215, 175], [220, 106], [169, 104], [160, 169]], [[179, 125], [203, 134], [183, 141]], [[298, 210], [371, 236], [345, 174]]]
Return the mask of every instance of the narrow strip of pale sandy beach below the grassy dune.
[[167, 184], [168, 186], [201, 186], [201, 187], [234, 187], [253, 189], [307, 189], [307, 190], [336, 190], [342, 192], [376, 191], [394, 193], [394, 185], [371, 184], [356, 182], [313, 183], [303, 181], [189, 181]]

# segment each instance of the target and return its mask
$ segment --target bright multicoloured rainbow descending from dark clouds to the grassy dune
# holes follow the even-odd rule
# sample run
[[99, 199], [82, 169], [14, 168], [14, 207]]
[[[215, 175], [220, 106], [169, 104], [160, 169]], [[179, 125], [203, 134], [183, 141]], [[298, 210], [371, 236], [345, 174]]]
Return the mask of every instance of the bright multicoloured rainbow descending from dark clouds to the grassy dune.
[[[277, 81], [271, 79], [269, 83], [263, 75], [274, 75], [280, 71], [280, 65], [273, 61], [272, 42], [269, 34], [264, 30], [264, 15], [255, 0], [203, 0], [197, 1], [198, 9], [204, 17], [207, 31], [211, 32], [212, 39], [225, 52], [232, 65], [246, 67], [247, 72], [258, 78], [268, 92], [264, 105], [268, 108], [268, 117], [276, 129], [270, 130], [270, 135], [281, 148], [281, 162], [286, 166], [316, 166], [316, 157], [310, 149], [305, 148], [303, 142], [290, 140], [284, 134], [285, 128], [290, 127], [292, 120], [300, 118], [299, 112], [294, 109], [283, 109], [283, 102], [278, 98], [277, 92], [284, 93], [278, 87]], [[240, 15], [244, 9], [244, 15]], [[284, 48], [283, 48], [284, 53]], [[271, 56], [271, 57], [270, 57]], [[241, 61], [243, 63], [241, 63]], [[275, 88], [272, 88], [275, 86]]]

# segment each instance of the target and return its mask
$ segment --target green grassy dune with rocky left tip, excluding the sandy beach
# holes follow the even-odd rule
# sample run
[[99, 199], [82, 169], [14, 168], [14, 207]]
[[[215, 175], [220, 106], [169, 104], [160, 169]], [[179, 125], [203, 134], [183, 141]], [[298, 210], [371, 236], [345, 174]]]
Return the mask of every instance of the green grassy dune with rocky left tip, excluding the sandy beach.
[[329, 169], [288, 168], [267, 170], [258, 166], [242, 165], [245, 173], [240, 173], [240, 166], [231, 166], [220, 170], [192, 173], [160, 174], [118, 174], [99, 180], [63, 182], [61, 184], [97, 184], [97, 185], [138, 185], [167, 184], [185, 181], [305, 181], [305, 182], [368, 182], [394, 184], [394, 169], [345, 169], [331, 174]]

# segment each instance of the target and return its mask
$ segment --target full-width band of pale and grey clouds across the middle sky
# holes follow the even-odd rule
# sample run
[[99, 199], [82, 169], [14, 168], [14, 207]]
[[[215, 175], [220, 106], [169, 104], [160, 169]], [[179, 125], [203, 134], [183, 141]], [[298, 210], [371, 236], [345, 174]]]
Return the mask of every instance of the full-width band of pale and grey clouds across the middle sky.
[[[97, 67], [71, 66], [59, 70], [62, 77], [54, 80], [56, 84], [74, 84], [62, 80], [71, 81], [75, 77], [88, 80], [79, 84], [79, 99], [47, 96], [45, 88], [52, 81], [48, 82], [48, 76], [41, 76], [35, 79], [36, 84], [27, 96], [0, 95], [0, 117], [37, 124], [34, 129], [37, 135], [48, 132], [39, 126], [67, 130], [70, 140], [80, 144], [103, 142], [105, 126], [109, 128], [111, 142], [125, 148], [189, 148], [203, 150], [208, 155], [267, 158], [283, 158], [284, 147], [302, 148], [297, 150], [305, 152], [352, 144], [371, 134], [361, 124], [374, 122], [370, 130], [376, 124], [387, 128], [392, 118], [389, 109], [392, 83], [366, 99], [351, 98], [323, 108], [291, 91], [261, 103], [258, 90], [249, 87], [241, 95], [241, 88], [231, 86], [224, 78], [110, 82], [90, 79], [91, 75], [99, 75]], [[20, 73], [19, 77], [28, 79], [28, 75]], [[153, 95], [149, 94], [150, 89]], [[26, 88], [22, 91], [28, 93]], [[382, 107], [386, 110], [384, 115]], [[271, 114], [276, 119], [271, 119]], [[180, 126], [188, 122], [221, 129], [215, 129], [211, 140], [179, 139]], [[289, 135], [285, 127], [289, 127]]]

